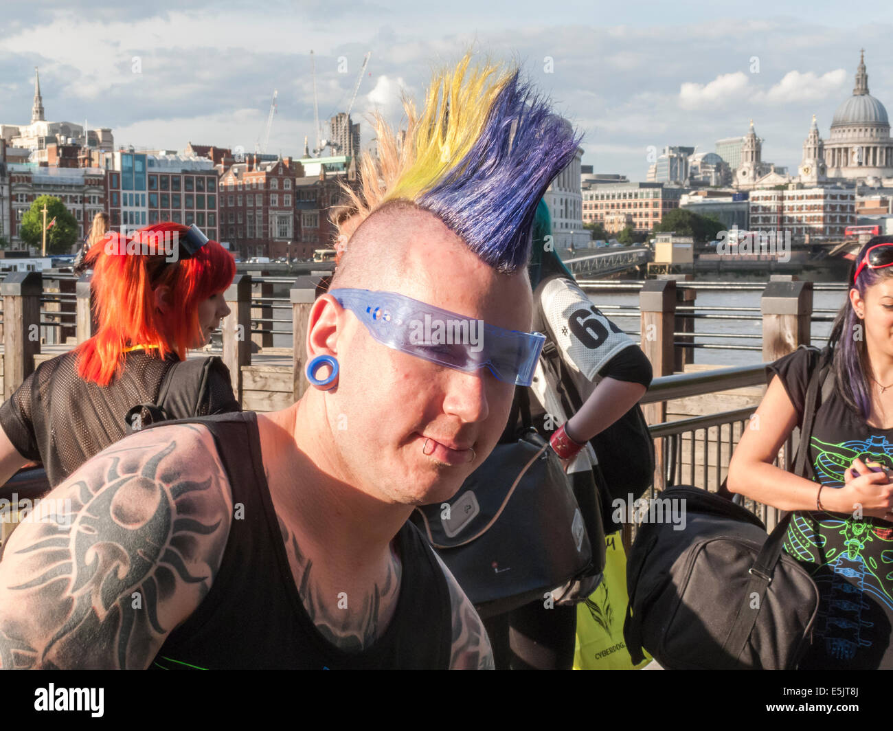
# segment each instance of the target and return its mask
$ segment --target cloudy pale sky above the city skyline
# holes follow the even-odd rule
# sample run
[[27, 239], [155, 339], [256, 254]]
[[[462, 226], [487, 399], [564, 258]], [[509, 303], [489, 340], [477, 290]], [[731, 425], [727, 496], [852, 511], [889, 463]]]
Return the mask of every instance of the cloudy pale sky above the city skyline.
[[[873, 6], [872, 6], [873, 5]], [[0, 122], [27, 123], [34, 67], [46, 119], [111, 127], [118, 144], [187, 142], [253, 150], [279, 90], [269, 152], [313, 146], [316, 58], [320, 118], [399, 121], [430, 69], [468, 47], [515, 59], [585, 134], [584, 164], [644, 180], [649, 147], [744, 134], [754, 119], [763, 159], [795, 168], [812, 115], [828, 137], [852, 93], [859, 49], [869, 88], [893, 109], [893, 11], [885, 3], [481, 2], [417, 0], [64, 0], [4, 7]], [[852, 12], [850, 12], [852, 9]], [[363, 145], [369, 142], [363, 124]], [[792, 171], [794, 172], [794, 171]]]

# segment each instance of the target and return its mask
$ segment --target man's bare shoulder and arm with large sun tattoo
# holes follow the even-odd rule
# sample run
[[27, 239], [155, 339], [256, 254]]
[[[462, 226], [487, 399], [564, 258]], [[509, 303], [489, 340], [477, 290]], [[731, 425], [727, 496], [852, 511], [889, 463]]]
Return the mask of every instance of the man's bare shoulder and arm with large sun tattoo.
[[118, 441], [10, 536], [0, 668], [146, 668], [213, 583], [232, 497], [194, 424]]

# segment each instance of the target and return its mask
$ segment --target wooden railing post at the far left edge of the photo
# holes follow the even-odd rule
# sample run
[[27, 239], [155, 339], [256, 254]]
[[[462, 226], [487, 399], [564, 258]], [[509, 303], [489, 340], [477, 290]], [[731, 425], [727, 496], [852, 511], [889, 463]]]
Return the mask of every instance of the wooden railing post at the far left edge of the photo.
[[9, 399], [21, 382], [34, 373], [34, 357], [40, 352], [39, 272], [11, 272], [0, 284], [3, 295], [4, 398]]

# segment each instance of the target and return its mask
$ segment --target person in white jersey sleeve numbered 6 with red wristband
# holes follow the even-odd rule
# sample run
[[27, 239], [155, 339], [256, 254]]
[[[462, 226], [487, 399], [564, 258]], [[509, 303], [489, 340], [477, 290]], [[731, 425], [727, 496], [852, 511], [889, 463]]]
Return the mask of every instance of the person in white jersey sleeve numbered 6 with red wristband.
[[[578, 500], [581, 495], [597, 500], [593, 475], [597, 458], [588, 440], [623, 416], [647, 391], [651, 364], [635, 341], [580, 289], [554, 248], [547, 245], [550, 232], [548, 207], [540, 201], [528, 267], [534, 305], [544, 315], [541, 332], [555, 344], [586, 400], [576, 413], [565, 413], [555, 374], [543, 367], [540, 358], [530, 386], [531, 415], [539, 433], [550, 433], [554, 424], [560, 424], [552, 443], [558, 445], [559, 456], [572, 454], [567, 472], [573, 475]], [[563, 440], [566, 451], [556, 438]], [[576, 618], [575, 606], [546, 609], [542, 601], [534, 601], [485, 620], [497, 668], [572, 668]]]

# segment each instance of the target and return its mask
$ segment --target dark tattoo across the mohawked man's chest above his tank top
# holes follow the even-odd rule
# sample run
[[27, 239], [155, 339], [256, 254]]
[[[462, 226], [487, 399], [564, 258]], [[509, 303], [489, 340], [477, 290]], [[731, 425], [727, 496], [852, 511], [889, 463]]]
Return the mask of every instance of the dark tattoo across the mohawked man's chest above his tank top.
[[370, 647], [387, 629], [400, 592], [403, 567], [393, 548], [384, 580], [375, 584], [371, 592], [364, 592], [359, 605], [351, 594], [349, 609], [344, 609], [337, 595], [323, 596], [323, 590], [314, 581], [313, 560], [298, 547], [295, 534], [281, 520], [279, 523], [298, 594], [316, 629], [339, 650], [360, 652]]

